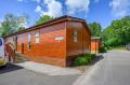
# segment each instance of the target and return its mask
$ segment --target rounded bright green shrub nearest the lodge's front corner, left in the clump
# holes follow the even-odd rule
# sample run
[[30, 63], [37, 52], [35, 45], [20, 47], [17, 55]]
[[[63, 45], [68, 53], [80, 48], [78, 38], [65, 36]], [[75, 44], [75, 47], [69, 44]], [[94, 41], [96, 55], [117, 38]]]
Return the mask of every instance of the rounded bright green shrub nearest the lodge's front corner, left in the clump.
[[89, 61], [86, 57], [77, 57], [74, 61], [75, 66], [83, 66], [87, 65]]

